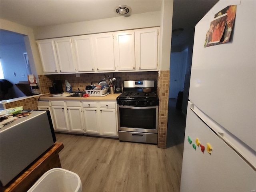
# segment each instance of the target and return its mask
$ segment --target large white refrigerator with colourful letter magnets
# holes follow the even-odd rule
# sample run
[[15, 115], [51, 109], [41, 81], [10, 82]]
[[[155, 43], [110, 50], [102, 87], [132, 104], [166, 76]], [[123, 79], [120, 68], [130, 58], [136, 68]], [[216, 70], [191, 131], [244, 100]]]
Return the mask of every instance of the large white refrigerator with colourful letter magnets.
[[[204, 47], [230, 5], [230, 42]], [[180, 191], [256, 191], [255, 0], [220, 0], [196, 25]]]

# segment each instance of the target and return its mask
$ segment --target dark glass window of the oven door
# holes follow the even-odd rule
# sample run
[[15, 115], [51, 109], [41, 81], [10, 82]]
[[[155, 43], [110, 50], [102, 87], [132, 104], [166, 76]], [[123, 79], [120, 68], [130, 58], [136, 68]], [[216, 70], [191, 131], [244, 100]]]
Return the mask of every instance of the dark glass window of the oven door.
[[119, 113], [121, 127], [156, 129], [156, 108], [119, 108]]

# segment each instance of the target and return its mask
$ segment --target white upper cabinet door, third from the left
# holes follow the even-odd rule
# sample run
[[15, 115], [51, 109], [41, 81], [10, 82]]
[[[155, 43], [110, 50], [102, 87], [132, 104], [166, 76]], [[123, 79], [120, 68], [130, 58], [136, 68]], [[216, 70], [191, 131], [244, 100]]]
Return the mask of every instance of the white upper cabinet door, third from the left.
[[74, 38], [78, 72], [94, 72], [92, 36], [85, 35]]

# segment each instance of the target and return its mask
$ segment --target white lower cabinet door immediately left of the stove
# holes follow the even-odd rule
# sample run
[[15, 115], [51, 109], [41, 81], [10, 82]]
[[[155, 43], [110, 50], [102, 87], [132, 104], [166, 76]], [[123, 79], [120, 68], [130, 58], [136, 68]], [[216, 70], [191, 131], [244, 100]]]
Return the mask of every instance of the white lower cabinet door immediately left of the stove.
[[103, 135], [118, 135], [116, 126], [116, 110], [100, 109], [100, 128]]

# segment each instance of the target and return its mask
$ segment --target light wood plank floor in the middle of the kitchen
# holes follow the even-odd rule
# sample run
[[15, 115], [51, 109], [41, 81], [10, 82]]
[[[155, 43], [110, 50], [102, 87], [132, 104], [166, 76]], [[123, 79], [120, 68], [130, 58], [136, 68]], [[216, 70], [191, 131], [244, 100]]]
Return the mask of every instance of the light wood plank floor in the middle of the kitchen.
[[117, 139], [57, 134], [62, 168], [80, 176], [83, 192], [178, 192], [183, 143], [167, 149]]

